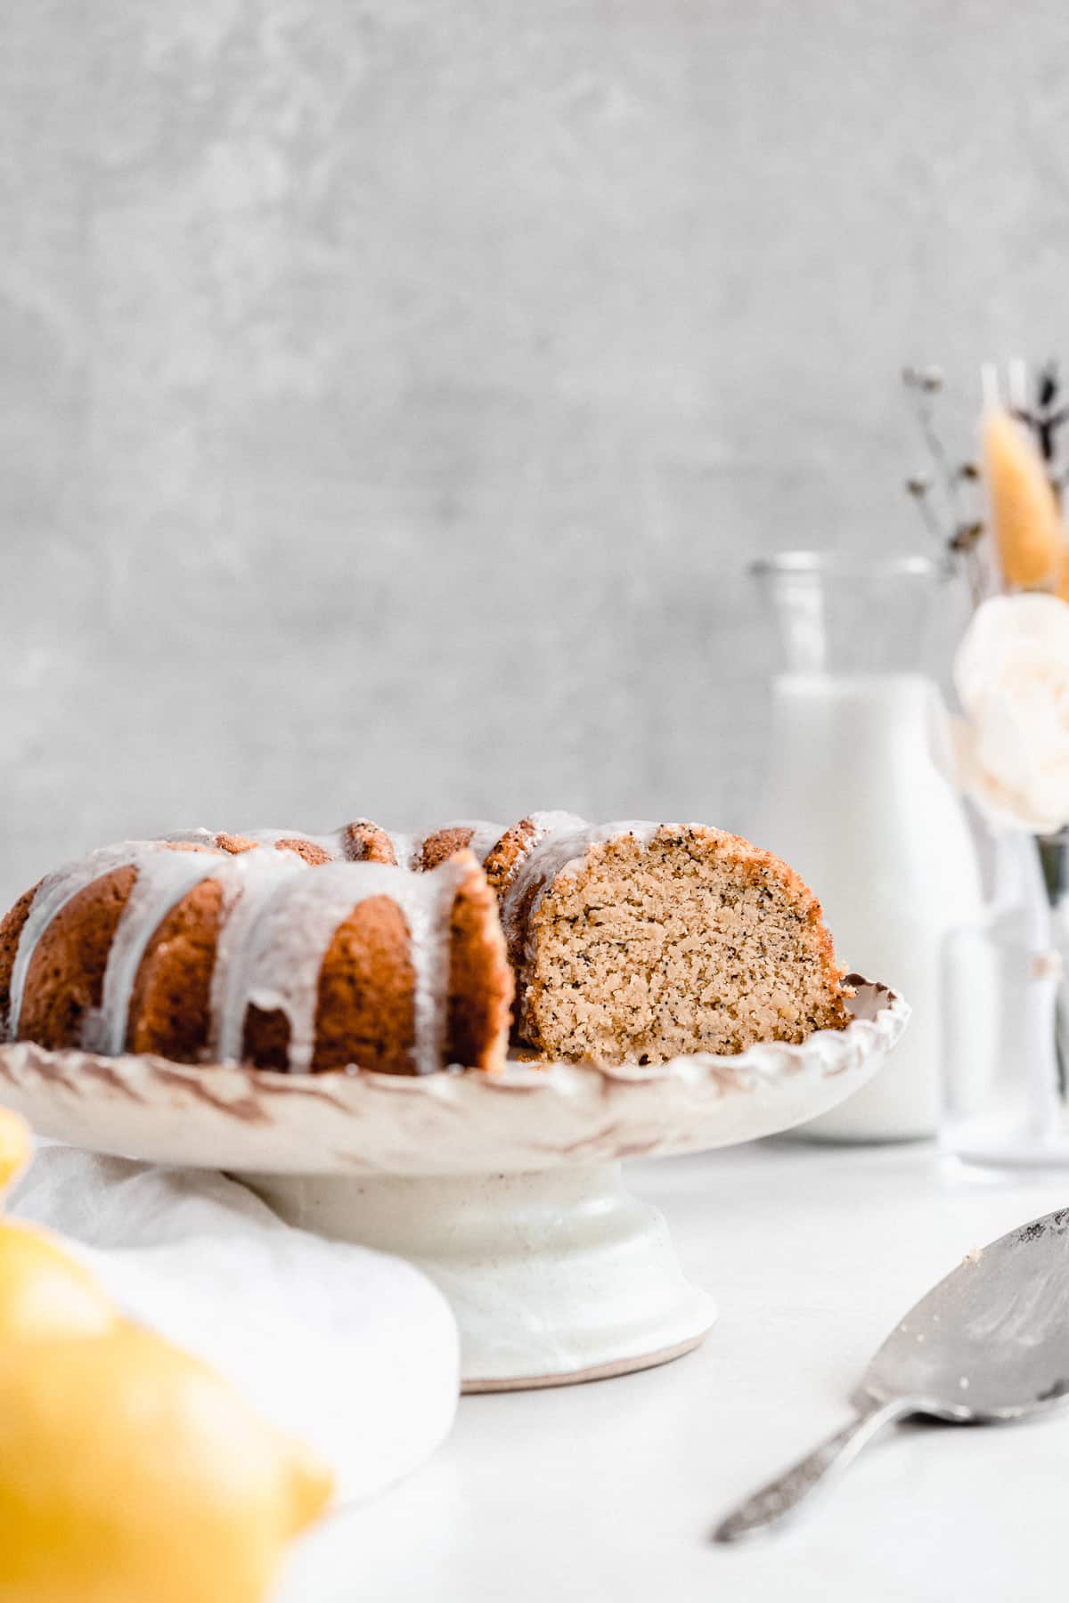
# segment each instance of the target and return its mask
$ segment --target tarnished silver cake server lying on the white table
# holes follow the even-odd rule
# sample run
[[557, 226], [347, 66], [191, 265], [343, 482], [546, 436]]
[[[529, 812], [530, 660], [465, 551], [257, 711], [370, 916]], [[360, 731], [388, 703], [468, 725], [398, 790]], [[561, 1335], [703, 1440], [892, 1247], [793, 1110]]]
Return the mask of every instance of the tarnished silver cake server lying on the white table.
[[1069, 1209], [970, 1254], [886, 1339], [853, 1396], [856, 1414], [728, 1515], [718, 1542], [769, 1531], [910, 1414], [1006, 1425], [1069, 1396]]

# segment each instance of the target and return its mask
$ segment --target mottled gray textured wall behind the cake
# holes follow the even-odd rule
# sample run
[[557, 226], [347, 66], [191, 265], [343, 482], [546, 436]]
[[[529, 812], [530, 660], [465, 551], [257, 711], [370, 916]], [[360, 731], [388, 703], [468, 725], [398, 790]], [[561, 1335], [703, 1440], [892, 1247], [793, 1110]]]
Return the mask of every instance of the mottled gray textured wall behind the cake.
[[1067, 135], [1034, 0], [8, 0], [3, 890], [745, 827], [742, 566], [920, 543], [898, 367], [1064, 340]]

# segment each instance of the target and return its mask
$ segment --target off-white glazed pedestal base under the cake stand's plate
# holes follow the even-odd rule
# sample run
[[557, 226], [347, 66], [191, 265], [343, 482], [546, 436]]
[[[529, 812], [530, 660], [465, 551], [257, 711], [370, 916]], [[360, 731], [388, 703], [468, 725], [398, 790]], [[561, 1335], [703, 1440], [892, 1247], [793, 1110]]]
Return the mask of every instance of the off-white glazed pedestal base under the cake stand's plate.
[[716, 1318], [619, 1164], [529, 1175], [245, 1175], [292, 1225], [394, 1252], [446, 1294], [465, 1391], [623, 1375], [697, 1347]]

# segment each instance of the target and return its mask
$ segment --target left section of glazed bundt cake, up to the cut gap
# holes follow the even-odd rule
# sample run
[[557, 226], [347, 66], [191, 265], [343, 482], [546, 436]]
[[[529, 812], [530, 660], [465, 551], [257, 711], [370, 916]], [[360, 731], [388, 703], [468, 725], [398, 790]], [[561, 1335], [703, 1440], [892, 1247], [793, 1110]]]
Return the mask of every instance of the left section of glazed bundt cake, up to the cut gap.
[[[279, 850], [271, 850], [277, 846]], [[497, 1068], [513, 978], [470, 851], [415, 875], [313, 837], [104, 846], [0, 925], [6, 1034], [282, 1071]]]

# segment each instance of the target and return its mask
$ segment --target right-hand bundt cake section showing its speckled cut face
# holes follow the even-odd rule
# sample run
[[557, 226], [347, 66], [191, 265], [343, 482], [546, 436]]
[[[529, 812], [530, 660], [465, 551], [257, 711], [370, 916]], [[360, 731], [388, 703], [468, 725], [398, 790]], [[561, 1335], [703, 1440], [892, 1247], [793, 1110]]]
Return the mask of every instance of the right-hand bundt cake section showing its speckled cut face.
[[558, 1058], [660, 1063], [848, 1023], [813, 893], [700, 824], [550, 830], [500, 890], [518, 1037]]

